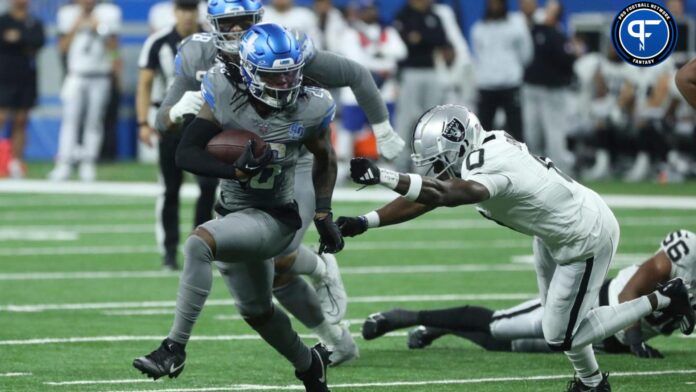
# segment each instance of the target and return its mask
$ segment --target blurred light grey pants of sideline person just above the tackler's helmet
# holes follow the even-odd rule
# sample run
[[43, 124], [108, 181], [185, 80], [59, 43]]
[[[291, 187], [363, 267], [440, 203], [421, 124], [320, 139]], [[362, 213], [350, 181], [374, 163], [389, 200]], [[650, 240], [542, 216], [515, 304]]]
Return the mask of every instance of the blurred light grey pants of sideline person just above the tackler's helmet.
[[[433, 68], [406, 68], [401, 74], [401, 85], [396, 102], [396, 129], [406, 145], [411, 144], [413, 128], [426, 110], [441, 105], [445, 86]], [[396, 159], [397, 169], [411, 171], [411, 149], [404, 148]]]

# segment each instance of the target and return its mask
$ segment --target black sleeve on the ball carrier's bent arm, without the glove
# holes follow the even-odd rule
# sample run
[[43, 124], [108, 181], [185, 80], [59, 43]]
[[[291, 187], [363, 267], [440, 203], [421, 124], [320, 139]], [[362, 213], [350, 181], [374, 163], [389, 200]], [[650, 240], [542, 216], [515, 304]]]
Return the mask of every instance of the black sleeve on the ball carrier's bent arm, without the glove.
[[176, 166], [199, 176], [236, 179], [234, 165], [217, 160], [205, 149], [210, 139], [221, 131], [214, 122], [196, 117], [181, 136]]

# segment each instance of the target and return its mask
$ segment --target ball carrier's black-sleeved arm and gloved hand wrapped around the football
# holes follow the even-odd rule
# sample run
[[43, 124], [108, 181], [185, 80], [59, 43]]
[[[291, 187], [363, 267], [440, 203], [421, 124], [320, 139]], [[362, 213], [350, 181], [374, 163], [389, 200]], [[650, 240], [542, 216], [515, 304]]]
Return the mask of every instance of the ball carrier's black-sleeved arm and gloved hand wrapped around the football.
[[205, 148], [210, 139], [221, 131], [222, 128], [212, 110], [208, 104], [204, 104], [198, 116], [184, 130], [176, 150], [176, 165], [200, 176], [244, 182], [258, 174], [273, 160], [273, 152], [268, 147], [258, 158], [254, 157], [253, 141], [249, 141], [245, 152], [234, 164], [217, 160]]

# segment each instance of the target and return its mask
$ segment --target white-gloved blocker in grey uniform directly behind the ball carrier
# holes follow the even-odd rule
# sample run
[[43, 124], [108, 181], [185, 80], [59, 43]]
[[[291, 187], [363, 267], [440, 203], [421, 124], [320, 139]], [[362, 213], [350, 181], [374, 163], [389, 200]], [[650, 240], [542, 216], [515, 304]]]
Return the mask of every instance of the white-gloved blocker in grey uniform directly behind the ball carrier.
[[[200, 95], [203, 75], [216, 59], [224, 60], [229, 67], [238, 66], [239, 38], [249, 27], [258, 23], [262, 15], [261, 2], [255, 0], [209, 3], [212, 33], [195, 34], [182, 43], [177, 55], [174, 82], [157, 116], [160, 132], [168, 131], [173, 124], [182, 122], [185, 116], [198, 113], [203, 105]], [[389, 124], [387, 107], [370, 72], [352, 60], [314, 50], [312, 41], [307, 37], [302, 37], [301, 44], [305, 57], [304, 76], [327, 88], [350, 87], [372, 124], [381, 154], [387, 159], [396, 157], [404, 142]], [[239, 72], [231, 72], [229, 77], [242, 83]], [[324, 324], [324, 321], [329, 324], [341, 322], [346, 313], [347, 296], [335, 257], [330, 254], [318, 255], [302, 245], [315, 209], [311, 154], [303, 150], [295, 173], [295, 199], [302, 228], [296, 232], [292, 243], [276, 257], [273, 293], [293, 316], [333, 348], [331, 360], [332, 365], [336, 366], [358, 355], [347, 327]], [[297, 275], [307, 275], [314, 290]], [[322, 312], [315, 311], [317, 298]]]

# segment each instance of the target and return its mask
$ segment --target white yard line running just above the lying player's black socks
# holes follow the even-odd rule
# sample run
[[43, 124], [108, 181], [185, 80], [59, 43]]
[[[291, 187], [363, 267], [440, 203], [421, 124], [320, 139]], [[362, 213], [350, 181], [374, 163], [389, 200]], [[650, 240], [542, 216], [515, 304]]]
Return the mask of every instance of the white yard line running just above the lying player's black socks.
[[[536, 296], [536, 293], [489, 293], [489, 294], [433, 294], [433, 295], [376, 295], [353, 296], [349, 303], [384, 303], [384, 302], [438, 302], [438, 301], [505, 301], [525, 300]], [[67, 304], [33, 304], [33, 305], [0, 305], [0, 312], [44, 312], [48, 310], [110, 310], [110, 309], [144, 309], [144, 308], [173, 308], [176, 301], [143, 301], [143, 302], [87, 302]], [[209, 299], [206, 306], [231, 306], [232, 299]]]

